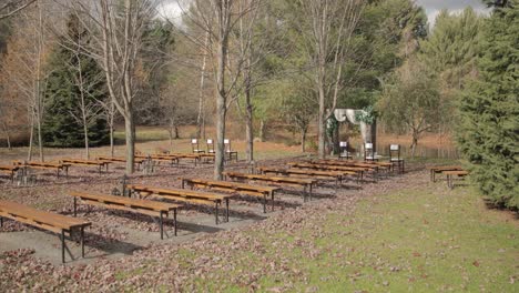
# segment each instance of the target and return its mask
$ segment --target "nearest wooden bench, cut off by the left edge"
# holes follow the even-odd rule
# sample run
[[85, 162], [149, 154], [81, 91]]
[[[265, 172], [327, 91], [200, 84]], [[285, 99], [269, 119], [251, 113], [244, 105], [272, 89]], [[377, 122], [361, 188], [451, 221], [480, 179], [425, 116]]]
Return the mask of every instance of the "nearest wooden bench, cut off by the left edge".
[[62, 214], [44, 212], [10, 201], [0, 201], [0, 226], [3, 218], [11, 219], [28, 225], [58, 233], [61, 239], [61, 262], [65, 261], [65, 233], [72, 239], [72, 234], [79, 231], [81, 242], [81, 256], [84, 257], [84, 228], [91, 223]]

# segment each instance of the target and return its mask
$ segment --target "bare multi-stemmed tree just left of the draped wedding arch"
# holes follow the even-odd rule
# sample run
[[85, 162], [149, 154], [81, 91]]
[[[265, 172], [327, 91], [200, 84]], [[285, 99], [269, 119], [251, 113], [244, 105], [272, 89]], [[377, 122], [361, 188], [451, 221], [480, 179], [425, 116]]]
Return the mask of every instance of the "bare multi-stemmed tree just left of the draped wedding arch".
[[325, 123], [333, 114], [343, 89], [343, 65], [357, 27], [363, 0], [299, 0], [301, 33], [311, 62], [318, 99], [318, 155], [325, 156]]

